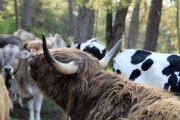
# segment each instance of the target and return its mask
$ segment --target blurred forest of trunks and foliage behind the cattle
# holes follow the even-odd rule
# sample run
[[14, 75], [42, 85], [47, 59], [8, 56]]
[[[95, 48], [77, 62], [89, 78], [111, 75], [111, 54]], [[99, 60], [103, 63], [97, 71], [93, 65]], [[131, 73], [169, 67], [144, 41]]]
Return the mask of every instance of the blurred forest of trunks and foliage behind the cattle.
[[0, 0], [0, 34], [96, 37], [107, 50], [122, 38], [121, 50], [179, 53], [179, 7], [180, 0]]

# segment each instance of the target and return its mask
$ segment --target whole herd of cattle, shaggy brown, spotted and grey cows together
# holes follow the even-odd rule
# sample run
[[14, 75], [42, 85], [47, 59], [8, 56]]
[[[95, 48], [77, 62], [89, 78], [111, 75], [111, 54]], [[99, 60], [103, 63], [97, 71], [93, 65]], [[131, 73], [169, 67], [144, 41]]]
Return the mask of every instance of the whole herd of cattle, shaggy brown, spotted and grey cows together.
[[68, 45], [59, 34], [0, 35], [0, 120], [23, 99], [29, 120], [40, 120], [43, 96], [72, 120], [179, 120], [180, 55], [125, 49], [108, 73], [120, 44], [106, 54], [95, 38]]

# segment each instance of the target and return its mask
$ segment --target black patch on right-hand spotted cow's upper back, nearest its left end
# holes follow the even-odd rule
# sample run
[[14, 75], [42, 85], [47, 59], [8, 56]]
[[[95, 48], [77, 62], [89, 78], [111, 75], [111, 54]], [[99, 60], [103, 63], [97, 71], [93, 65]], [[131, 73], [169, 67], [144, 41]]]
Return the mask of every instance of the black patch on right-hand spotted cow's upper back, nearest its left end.
[[136, 65], [141, 62], [143, 62], [149, 55], [152, 53], [149, 51], [144, 50], [137, 50], [132, 56], [131, 56], [131, 63]]

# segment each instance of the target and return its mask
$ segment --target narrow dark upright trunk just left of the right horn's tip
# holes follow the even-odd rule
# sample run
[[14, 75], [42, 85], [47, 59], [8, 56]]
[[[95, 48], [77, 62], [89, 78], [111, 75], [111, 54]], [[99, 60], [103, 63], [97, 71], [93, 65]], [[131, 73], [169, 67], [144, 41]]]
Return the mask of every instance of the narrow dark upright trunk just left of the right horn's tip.
[[106, 13], [106, 48], [109, 51], [111, 48], [109, 44], [111, 42], [111, 35], [112, 35], [112, 13], [107, 10]]

